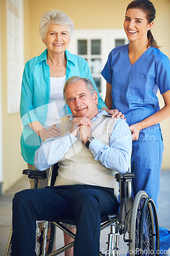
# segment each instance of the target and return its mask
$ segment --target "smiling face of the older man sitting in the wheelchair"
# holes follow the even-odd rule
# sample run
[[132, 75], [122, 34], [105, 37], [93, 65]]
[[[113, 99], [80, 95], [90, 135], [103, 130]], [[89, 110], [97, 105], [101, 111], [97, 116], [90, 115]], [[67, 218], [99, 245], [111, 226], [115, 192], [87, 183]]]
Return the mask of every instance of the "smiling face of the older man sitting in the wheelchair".
[[89, 119], [95, 117], [98, 111], [98, 94], [91, 95], [86, 83], [82, 80], [70, 83], [65, 89], [66, 99], [75, 117], [86, 116]]

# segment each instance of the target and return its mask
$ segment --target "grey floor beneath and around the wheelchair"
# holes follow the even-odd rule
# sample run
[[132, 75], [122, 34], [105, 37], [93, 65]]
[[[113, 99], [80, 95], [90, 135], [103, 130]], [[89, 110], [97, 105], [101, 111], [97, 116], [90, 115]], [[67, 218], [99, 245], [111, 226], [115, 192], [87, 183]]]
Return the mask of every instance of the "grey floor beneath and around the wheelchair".
[[[160, 196], [159, 196], [159, 225], [170, 229], [170, 170], [162, 170], [160, 175]], [[12, 198], [17, 191], [30, 187], [29, 179], [24, 176], [18, 183], [10, 188], [4, 195], [0, 196], [0, 256], [4, 256], [12, 219]], [[101, 250], [107, 248], [107, 228], [101, 232]], [[57, 229], [57, 245], [63, 245], [63, 234]], [[126, 252], [127, 245], [120, 236], [120, 248]], [[125, 254], [125, 253], [122, 253]], [[64, 253], [60, 254], [61, 256]], [[121, 254], [119, 254], [121, 255]], [[18, 255], [19, 256], [19, 255]], [[31, 255], [30, 255], [31, 256]]]

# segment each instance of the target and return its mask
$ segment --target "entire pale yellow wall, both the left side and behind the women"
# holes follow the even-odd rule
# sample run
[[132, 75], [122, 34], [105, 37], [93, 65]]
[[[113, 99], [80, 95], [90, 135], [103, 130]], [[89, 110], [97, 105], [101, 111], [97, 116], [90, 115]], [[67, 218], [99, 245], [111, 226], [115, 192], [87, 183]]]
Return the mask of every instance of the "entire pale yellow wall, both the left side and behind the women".
[[[38, 32], [39, 20], [42, 13], [50, 9], [60, 9], [73, 20], [75, 29], [83, 28], [123, 28], [126, 7], [129, 0], [23, 0], [24, 5], [24, 39], [25, 62], [39, 55], [45, 48]], [[162, 46], [161, 51], [170, 57], [170, 2], [169, 0], [153, 0], [157, 10], [153, 35]], [[2, 56], [2, 108], [3, 108], [3, 191], [7, 190], [22, 177], [21, 172], [26, 168], [26, 163], [20, 155], [21, 123], [19, 114], [7, 114], [7, 33], [6, 33], [6, 0], [0, 1], [1, 5], [1, 56]], [[165, 22], [166, 21], [166, 22]], [[160, 96], [160, 104], [163, 105]], [[170, 120], [161, 123], [164, 137], [164, 155], [162, 168], [170, 168], [169, 144], [170, 136], [168, 127]]]

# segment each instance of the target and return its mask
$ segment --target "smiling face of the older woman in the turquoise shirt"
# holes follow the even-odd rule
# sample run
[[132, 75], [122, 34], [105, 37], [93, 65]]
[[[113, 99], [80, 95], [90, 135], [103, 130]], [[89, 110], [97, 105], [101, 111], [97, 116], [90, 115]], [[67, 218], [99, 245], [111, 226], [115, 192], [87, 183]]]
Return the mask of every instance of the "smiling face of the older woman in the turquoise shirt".
[[42, 41], [46, 44], [48, 52], [64, 52], [70, 43], [68, 27], [52, 23], [49, 24], [45, 39], [42, 39]]

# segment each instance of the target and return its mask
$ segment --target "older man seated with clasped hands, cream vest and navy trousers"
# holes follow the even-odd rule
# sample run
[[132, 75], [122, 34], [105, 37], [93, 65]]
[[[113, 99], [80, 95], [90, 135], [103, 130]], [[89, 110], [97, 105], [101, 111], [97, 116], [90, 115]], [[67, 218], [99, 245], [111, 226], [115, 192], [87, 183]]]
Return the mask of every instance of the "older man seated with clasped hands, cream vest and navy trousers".
[[61, 218], [76, 219], [74, 255], [87, 255], [85, 246], [89, 256], [99, 256], [101, 216], [118, 211], [114, 173], [130, 165], [129, 126], [98, 110], [98, 95], [87, 78], [69, 78], [64, 98], [72, 114], [61, 118], [61, 136], [46, 139], [34, 160], [39, 170], [59, 162], [56, 183], [15, 195], [12, 256], [36, 255], [36, 220]]

